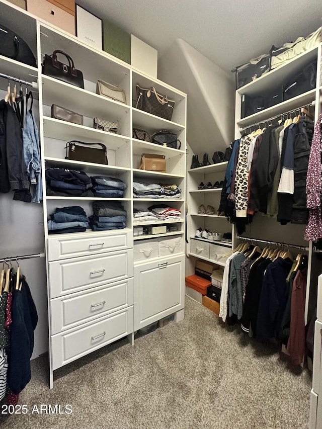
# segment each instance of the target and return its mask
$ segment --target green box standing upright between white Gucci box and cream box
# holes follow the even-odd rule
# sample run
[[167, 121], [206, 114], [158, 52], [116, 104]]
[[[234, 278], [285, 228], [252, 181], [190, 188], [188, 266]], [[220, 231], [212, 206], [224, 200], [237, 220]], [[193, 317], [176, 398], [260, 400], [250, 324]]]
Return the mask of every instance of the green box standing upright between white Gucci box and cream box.
[[122, 28], [103, 21], [103, 50], [121, 60], [131, 63], [131, 35]]

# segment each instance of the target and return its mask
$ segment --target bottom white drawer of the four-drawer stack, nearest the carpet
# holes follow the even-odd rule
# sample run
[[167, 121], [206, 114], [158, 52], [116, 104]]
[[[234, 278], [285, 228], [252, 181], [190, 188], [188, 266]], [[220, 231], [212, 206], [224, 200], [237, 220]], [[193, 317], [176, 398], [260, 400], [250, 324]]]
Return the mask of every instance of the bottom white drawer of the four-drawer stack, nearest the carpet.
[[133, 306], [81, 328], [53, 335], [51, 336], [53, 370], [131, 332], [133, 332]]

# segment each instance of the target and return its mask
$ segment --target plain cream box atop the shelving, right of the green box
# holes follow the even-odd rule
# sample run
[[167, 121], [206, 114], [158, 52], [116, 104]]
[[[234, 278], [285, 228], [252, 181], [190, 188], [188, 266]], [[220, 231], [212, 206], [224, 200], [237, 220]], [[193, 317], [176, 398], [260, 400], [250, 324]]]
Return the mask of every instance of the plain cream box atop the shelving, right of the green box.
[[133, 34], [131, 34], [131, 65], [148, 76], [157, 78], [157, 50]]

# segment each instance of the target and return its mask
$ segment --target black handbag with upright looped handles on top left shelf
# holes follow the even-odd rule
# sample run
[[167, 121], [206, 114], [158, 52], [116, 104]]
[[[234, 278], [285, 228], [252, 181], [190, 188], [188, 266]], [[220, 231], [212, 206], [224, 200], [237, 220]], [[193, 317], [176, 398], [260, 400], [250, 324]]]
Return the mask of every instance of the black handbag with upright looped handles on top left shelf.
[[[57, 60], [57, 53], [65, 55], [68, 60], [66, 65]], [[76, 70], [72, 58], [63, 51], [54, 51], [51, 55], [45, 55], [42, 64], [42, 73], [63, 82], [70, 83], [84, 90], [84, 79], [81, 70]]]

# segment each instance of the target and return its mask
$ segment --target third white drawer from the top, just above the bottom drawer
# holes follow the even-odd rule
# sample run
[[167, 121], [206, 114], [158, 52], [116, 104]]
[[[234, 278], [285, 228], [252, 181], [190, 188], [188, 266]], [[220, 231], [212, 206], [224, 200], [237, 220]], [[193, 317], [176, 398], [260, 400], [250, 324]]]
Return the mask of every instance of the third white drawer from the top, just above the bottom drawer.
[[133, 277], [50, 300], [51, 334], [133, 305]]

